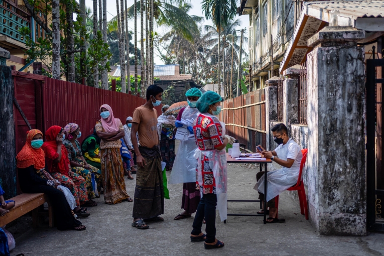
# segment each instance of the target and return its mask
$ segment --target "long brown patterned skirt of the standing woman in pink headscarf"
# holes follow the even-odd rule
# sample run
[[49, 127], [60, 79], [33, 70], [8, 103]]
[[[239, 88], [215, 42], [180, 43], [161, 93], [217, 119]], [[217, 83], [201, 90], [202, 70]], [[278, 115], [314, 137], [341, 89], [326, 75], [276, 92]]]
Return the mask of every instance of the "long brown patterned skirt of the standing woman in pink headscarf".
[[130, 198], [126, 193], [120, 149], [100, 150], [104, 201], [107, 204], [120, 203], [122, 200]]

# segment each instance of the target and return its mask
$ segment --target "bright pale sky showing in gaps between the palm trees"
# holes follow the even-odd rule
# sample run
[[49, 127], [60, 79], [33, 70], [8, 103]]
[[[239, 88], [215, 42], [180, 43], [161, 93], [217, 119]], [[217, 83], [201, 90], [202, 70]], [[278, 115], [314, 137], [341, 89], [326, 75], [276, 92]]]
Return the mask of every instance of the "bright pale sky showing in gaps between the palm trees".
[[[77, 0], [78, 1], [78, 0]], [[201, 9], [201, 0], [191, 0], [190, 4], [192, 5], [192, 10], [188, 13], [189, 15], [196, 15], [200, 17], [204, 17], [203, 11]], [[237, 5], [239, 6], [240, 1], [237, 1]], [[85, 4], [87, 7], [89, 7], [91, 10], [93, 10], [93, 1], [92, 0], [86, 0]], [[132, 6], [134, 4], [133, 0], [127, 0], [127, 5]], [[114, 16], [116, 16], [117, 11], [116, 11], [116, 1], [114, 0], [107, 0], [107, 21], [112, 19]], [[241, 26], [238, 27], [237, 29], [242, 29], [242, 28], [248, 28], [249, 26], [249, 17], [248, 15], [243, 15], [238, 17], [236, 15], [235, 19], [239, 19], [241, 21]], [[203, 25], [213, 25], [210, 20], [205, 20]], [[140, 20], [138, 21], [138, 37], [140, 38]], [[128, 21], [128, 27], [133, 30], [134, 28], [134, 21], [129, 20]], [[167, 32], [167, 28], [155, 28], [155, 31], [158, 32], [160, 35], [165, 34]], [[161, 59], [156, 56], [155, 53], [155, 64], [162, 65], [164, 64]]]

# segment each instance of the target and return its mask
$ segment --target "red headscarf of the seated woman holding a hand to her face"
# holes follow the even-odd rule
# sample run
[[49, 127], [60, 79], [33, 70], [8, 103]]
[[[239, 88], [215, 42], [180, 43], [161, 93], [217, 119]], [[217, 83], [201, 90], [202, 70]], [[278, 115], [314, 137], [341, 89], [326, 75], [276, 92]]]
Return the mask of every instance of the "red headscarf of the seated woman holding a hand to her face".
[[[42, 149], [46, 151], [46, 148], [52, 147], [53, 150], [57, 151], [57, 144], [56, 144], [56, 137], [59, 135], [61, 131], [61, 127], [58, 125], [53, 125], [48, 128], [48, 130], [45, 132], [45, 139], [46, 141], [44, 142]], [[46, 154], [47, 155], [47, 154]], [[52, 164], [54, 165], [54, 164]], [[67, 149], [63, 146], [61, 147], [61, 159], [60, 162], [57, 163], [57, 171], [63, 174], [68, 173], [68, 165], [69, 165], [69, 160], [68, 160], [68, 152]], [[52, 166], [49, 166], [49, 171], [52, 172]]]

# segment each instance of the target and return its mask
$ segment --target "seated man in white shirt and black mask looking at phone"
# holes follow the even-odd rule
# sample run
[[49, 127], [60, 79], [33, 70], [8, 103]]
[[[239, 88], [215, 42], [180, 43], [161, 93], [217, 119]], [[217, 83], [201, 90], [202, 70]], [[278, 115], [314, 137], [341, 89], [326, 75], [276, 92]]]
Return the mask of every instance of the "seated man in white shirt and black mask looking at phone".
[[[284, 222], [285, 219], [276, 218], [277, 208], [275, 207], [275, 197], [281, 192], [294, 186], [297, 183], [300, 172], [300, 163], [303, 158], [300, 146], [288, 137], [287, 126], [284, 123], [278, 123], [272, 127], [274, 141], [279, 144], [274, 151], [266, 151], [260, 145], [261, 151], [258, 152], [265, 158], [271, 158], [272, 161], [280, 165], [282, 168], [268, 172], [267, 176], [267, 207], [269, 207], [268, 223]], [[259, 199], [264, 199], [264, 172], [256, 175], [258, 182], [254, 186], [259, 191]], [[264, 209], [263, 201], [263, 209]], [[258, 212], [264, 214], [264, 210]], [[267, 210], [268, 214], [268, 210]]]

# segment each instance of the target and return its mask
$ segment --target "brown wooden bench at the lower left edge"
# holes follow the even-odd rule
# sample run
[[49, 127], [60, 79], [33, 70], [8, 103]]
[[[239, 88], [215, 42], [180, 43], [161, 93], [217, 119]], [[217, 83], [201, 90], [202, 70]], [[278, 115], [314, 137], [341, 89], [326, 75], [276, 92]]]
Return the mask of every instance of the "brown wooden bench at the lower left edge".
[[4, 216], [0, 216], [0, 227], [14, 221], [15, 219], [23, 216], [24, 214], [32, 211], [33, 227], [37, 227], [39, 224], [39, 206], [45, 202], [48, 203], [48, 216], [49, 227], [53, 227], [53, 211], [52, 206], [48, 201], [48, 196], [44, 193], [36, 194], [21, 194], [10, 198], [8, 200], [14, 200], [16, 205]]

